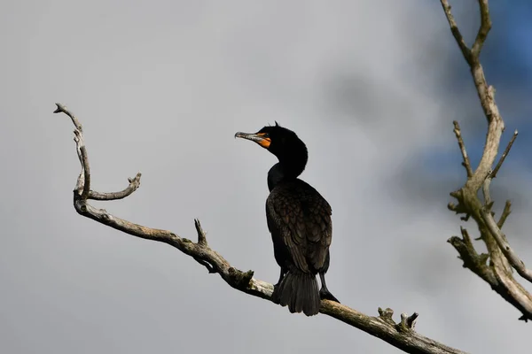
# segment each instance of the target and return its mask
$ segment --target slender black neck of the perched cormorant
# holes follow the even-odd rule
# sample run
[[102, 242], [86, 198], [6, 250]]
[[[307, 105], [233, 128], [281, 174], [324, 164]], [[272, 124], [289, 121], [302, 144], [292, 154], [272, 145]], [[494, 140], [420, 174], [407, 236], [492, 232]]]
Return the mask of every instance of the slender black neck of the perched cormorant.
[[[299, 152], [299, 153], [297, 153]], [[274, 189], [282, 181], [293, 181], [303, 172], [309, 159], [307, 148], [303, 145], [301, 151], [290, 151], [279, 156], [279, 162], [268, 172], [268, 189]]]

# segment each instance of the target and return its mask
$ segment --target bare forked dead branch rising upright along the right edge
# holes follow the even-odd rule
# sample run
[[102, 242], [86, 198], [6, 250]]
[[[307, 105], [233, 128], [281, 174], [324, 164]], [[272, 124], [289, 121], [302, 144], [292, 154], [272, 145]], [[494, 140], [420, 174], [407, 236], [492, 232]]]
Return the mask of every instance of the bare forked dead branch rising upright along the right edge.
[[[460, 258], [464, 261], [464, 266], [488, 282], [491, 289], [495, 290], [507, 302], [522, 312], [523, 315], [520, 319], [527, 321], [528, 319], [532, 319], [532, 295], [513, 277], [512, 268], [516, 269], [528, 281], [532, 279], [532, 273], [528, 271], [524, 263], [517, 257], [507, 242], [505, 235], [500, 230], [510, 214], [510, 202], [506, 202], [505, 210], [497, 223], [493, 219], [491, 212], [491, 207], [494, 202], [489, 196], [489, 184], [497, 176], [501, 165], [503, 165], [506, 156], [512, 148], [512, 144], [517, 137], [517, 131], [512, 136], [512, 140], [499, 159], [497, 166], [492, 170], [495, 159], [497, 158], [501, 135], [505, 130], [505, 122], [498, 112], [495, 102], [495, 89], [488, 85], [480, 62], [482, 46], [491, 28], [488, 0], [478, 0], [481, 12], [481, 27], [471, 49], [467, 47], [463, 36], [460, 34], [458, 25], [450, 12], [448, 0], [440, 1], [449, 21], [452, 35], [455, 37], [458, 47], [470, 67], [474, 86], [481, 101], [482, 110], [488, 121], [486, 143], [482, 151], [481, 161], [474, 172], [470, 166], [469, 158], [467, 158], [465, 142], [461, 136], [458, 123], [455, 122], [454, 131], [462, 152], [463, 165], [465, 165], [467, 171], [467, 178], [462, 188], [450, 193], [450, 196], [458, 200], [458, 204], [449, 204], [451, 211], [465, 214], [465, 217], [462, 218], [465, 221], [470, 216], [473, 218], [479, 229], [480, 238], [486, 244], [488, 254], [479, 255], [474, 250], [473, 242], [469, 235], [467, 235], [465, 229], [462, 229], [462, 238], [453, 236], [449, 239], [449, 242], [458, 250]], [[468, 165], [469, 168], [467, 168]], [[481, 202], [478, 196], [480, 189], [482, 189], [484, 203]]]

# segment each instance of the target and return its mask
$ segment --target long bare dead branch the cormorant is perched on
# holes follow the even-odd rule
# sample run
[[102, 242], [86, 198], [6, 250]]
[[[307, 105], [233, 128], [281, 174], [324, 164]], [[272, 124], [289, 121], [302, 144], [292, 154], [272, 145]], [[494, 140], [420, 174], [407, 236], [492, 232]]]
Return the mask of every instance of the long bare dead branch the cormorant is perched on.
[[[135, 178], [129, 179], [129, 187], [121, 192], [98, 193], [90, 190], [90, 165], [81, 130], [82, 126], [65, 106], [62, 104], [57, 104], [57, 106], [58, 109], [55, 112], [63, 112], [68, 115], [76, 127], [74, 131], [74, 142], [76, 143], [76, 150], [82, 166], [80, 177], [74, 189], [74, 208], [76, 212], [86, 218], [93, 219], [100, 224], [113, 227], [126, 234], [146, 240], [168, 243], [177, 250], [181, 250], [184, 254], [191, 256], [201, 266], [207, 267], [209, 273], [220, 274], [223, 281], [227, 282], [232, 288], [251, 296], [272, 301], [271, 294], [273, 292], [273, 285], [255, 279], [253, 271], [242, 272], [236, 269], [219, 253], [212, 250], [207, 244], [206, 233], [203, 231], [199, 220], [194, 220], [198, 233], [198, 242], [192, 242], [171, 231], [134, 224], [128, 220], [114, 216], [105, 209], [97, 209], [88, 204], [89, 199], [113, 200], [129, 196], [140, 185], [140, 173], [137, 173]], [[416, 312], [411, 316], [403, 313], [401, 320], [396, 323], [392, 319], [394, 312], [391, 309], [381, 310], [379, 308], [379, 316], [368, 316], [344, 304], [338, 304], [328, 300], [322, 300], [320, 312], [334, 319], [339, 319], [350, 326], [361, 329], [370, 335], [376, 336], [407, 353], [465, 354], [464, 351], [450, 348], [440, 342], [419, 335], [414, 330], [416, 319], [419, 316]]]

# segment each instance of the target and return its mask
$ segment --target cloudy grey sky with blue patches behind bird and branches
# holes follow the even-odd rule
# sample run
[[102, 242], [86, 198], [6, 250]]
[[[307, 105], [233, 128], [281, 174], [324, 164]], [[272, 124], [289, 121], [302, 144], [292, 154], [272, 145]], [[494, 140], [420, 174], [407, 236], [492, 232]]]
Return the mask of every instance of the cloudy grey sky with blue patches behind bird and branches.
[[[497, 210], [512, 200], [504, 231], [530, 263], [532, 5], [493, 3], [481, 61], [503, 143], [520, 136], [492, 189]], [[476, 2], [451, 4], [473, 42]], [[460, 225], [475, 235], [446, 207], [465, 178], [452, 120], [473, 162], [486, 124], [439, 2], [28, 0], [4, 4], [0, 42], [0, 351], [400, 352], [80, 217], [74, 127], [56, 102], [82, 121], [92, 189], [143, 173], [135, 194], [95, 205], [192, 239], [199, 218], [214, 250], [270, 282], [276, 160], [233, 135], [277, 120], [307, 143], [301, 179], [332, 205], [327, 285], [343, 304], [419, 312], [419, 333], [460, 350], [527, 348], [520, 313], [446, 242]]]

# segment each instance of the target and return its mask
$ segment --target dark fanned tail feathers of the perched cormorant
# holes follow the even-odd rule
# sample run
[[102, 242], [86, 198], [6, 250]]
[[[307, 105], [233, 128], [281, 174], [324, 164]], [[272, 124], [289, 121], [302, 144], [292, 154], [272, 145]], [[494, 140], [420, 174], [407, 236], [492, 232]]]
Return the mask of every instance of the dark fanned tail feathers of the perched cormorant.
[[274, 289], [273, 299], [281, 306], [288, 305], [288, 310], [292, 313], [316, 315], [320, 306], [316, 275], [299, 270], [289, 271]]

